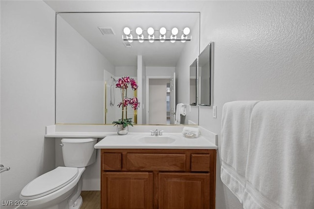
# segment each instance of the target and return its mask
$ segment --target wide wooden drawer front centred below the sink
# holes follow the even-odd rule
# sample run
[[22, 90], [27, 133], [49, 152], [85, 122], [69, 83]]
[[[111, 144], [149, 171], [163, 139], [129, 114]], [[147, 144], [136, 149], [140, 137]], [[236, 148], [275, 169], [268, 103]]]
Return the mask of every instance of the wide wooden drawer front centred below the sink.
[[127, 170], [185, 171], [185, 154], [128, 153]]

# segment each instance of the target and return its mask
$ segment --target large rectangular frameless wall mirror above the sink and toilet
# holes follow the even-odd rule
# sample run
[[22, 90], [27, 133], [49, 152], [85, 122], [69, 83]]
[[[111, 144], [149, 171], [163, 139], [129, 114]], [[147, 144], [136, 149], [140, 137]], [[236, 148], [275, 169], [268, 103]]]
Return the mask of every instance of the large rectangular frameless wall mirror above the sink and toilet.
[[[198, 12], [57, 13], [55, 122], [111, 124], [121, 118], [117, 106], [121, 95], [115, 85], [119, 78], [130, 76], [139, 88], [136, 92], [130, 89], [128, 96], [135, 94], [140, 108], [136, 112], [128, 108], [128, 117], [136, 117], [137, 124], [174, 124], [174, 99], [178, 91], [185, 90], [174, 88], [170, 93], [171, 84], [176, 83], [172, 79], [176, 74], [177, 79], [189, 82], [187, 76], [181, 76], [188, 74], [189, 66], [178, 66], [182, 66], [186, 48], [195, 46], [199, 51], [199, 20]], [[166, 39], [172, 28], [178, 28], [177, 38], [181, 39], [183, 28], [189, 27], [191, 40], [129, 42], [123, 40], [125, 27], [131, 29], [133, 38], [137, 38], [137, 27], [143, 29], [143, 35], [153, 27], [155, 39], [160, 38], [161, 27], [166, 28]], [[183, 124], [187, 123], [186, 119]]]

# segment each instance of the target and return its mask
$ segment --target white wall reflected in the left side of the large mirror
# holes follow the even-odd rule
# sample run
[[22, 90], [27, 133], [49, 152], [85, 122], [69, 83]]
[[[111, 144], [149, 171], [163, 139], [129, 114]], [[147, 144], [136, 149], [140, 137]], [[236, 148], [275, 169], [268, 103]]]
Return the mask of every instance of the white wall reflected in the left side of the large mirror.
[[104, 123], [104, 69], [115, 72], [94, 46], [58, 16], [57, 123]]

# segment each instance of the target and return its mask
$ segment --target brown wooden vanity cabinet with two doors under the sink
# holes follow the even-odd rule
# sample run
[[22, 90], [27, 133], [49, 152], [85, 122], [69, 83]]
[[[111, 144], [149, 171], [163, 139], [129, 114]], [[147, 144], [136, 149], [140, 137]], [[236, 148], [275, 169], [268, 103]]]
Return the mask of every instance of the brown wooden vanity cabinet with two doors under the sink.
[[216, 150], [102, 149], [102, 209], [214, 209]]

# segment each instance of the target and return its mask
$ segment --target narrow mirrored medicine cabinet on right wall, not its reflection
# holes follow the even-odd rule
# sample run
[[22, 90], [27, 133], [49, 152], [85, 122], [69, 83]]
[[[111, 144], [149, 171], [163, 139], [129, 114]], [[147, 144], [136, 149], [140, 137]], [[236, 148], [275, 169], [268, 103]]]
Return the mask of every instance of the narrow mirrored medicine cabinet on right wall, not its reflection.
[[213, 42], [198, 57], [198, 102], [204, 106], [211, 106], [213, 100], [212, 47]]

